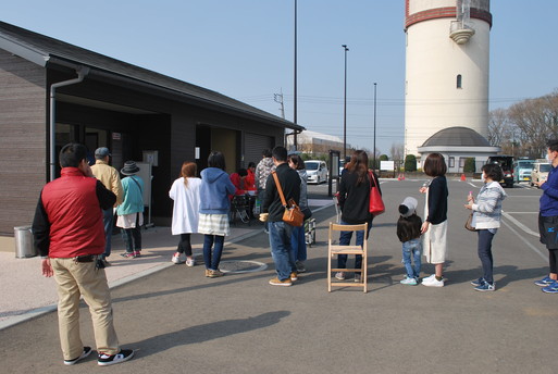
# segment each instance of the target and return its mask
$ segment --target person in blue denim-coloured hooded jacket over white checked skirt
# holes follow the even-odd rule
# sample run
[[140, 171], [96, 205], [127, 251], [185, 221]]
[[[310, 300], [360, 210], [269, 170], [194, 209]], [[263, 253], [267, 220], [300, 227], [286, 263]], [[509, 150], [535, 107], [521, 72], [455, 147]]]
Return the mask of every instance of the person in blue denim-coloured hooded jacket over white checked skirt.
[[230, 234], [230, 195], [236, 187], [225, 172], [225, 157], [213, 151], [208, 158], [208, 169], [201, 171], [198, 232], [203, 234], [203, 261], [206, 276], [215, 278], [224, 274], [219, 270], [225, 236]]

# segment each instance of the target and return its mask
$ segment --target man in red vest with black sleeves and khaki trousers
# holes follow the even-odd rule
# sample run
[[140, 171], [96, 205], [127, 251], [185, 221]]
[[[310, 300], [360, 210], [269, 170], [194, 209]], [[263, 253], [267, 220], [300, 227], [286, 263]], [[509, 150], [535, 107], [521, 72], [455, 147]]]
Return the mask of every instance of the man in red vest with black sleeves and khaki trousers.
[[59, 303], [59, 333], [64, 364], [73, 365], [91, 353], [79, 336], [79, 297], [89, 306], [99, 365], [129, 360], [134, 350], [120, 349], [112, 321], [112, 303], [100, 255], [104, 252], [102, 210], [116, 196], [97, 180], [83, 145], [60, 151], [61, 177], [40, 194], [33, 234], [41, 254], [42, 275], [54, 275]]

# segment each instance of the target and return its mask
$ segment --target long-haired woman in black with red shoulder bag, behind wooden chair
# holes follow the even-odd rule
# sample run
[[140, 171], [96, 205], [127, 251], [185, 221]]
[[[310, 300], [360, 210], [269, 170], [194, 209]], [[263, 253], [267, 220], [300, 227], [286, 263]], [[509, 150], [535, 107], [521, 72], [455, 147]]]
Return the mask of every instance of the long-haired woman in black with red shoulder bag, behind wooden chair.
[[[370, 188], [374, 186], [377, 176], [373, 174], [373, 179], [368, 173], [368, 154], [362, 150], [355, 151], [347, 166], [347, 171], [343, 174], [339, 184], [339, 208], [342, 210], [342, 225], [359, 225], [368, 222], [367, 237], [368, 240], [370, 228], [372, 227], [373, 215], [369, 212], [370, 207]], [[380, 184], [377, 184], [380, 189]], [[382, 192], [382, 191], [380, 191]], [[348, 246], [352, 237], [352, 232], [342, 232], [339, 236], [339, 245]], [[356, 245], [364, 244], [364, 232], [357, 232]], [[337, 267], [347, 269], [347, 254], [337, 257]], [[362, 267], [362, 255], [357, 254], [355, 260], [355, 269]], [[339, 280], [345, 279], [345, 272], [338, 272], [335, 277]], [[361, 274], [355, 273], [355, 282], [361, 282]]]

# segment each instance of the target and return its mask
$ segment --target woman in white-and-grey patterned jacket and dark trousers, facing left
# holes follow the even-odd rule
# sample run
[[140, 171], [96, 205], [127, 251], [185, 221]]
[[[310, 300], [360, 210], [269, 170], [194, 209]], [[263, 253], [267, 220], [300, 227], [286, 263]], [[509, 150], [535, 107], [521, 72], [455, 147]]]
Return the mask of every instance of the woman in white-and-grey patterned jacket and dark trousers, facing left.
[[483, 276], [471, 282], [476, 291], [494, 291], [496, 283], [493, 278], [494, 260], [492, 257], [492, 239], [500, 227], [501, 202], [507, 197], [499, 180], [501, 180], [501, 169], [497, 164], [486, 164], [482, 167], [484, 186], [474, 198], [469, 195], [469, 203], [464, 207], [473, 211], [471, 226], [476, 228], [479, 234], [479, 259], [483, 266]]

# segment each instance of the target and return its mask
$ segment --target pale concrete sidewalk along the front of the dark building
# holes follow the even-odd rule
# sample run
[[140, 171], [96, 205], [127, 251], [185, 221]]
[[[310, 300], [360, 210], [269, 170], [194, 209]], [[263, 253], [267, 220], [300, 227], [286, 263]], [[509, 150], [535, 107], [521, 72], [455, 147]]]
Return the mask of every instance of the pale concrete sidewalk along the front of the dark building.
[[[331, 205], [331, 200], [315, 200], [312, 211]], [[320, 207], [321, 205], [321, 207]], [[255, 235], [263, 234], [263, 224], [252, 221], [231, 225], [227, 244], [237, 242]], [[137, 259], [124, 259], [124, 242], [120, 235], [112, 237], [111, 266], [107, 267], [107, 278], [111, 288], [173, 266], [172, 254], [176, 251], [178, 236], [171, 234], [170, 227], [151, 227], [141, 232], [142, 251]], [[193, 250], [196, 259], [202, 262], [203, 235], [194, 234]], [[0, 237], [0, 329], [13, 326], [35, 316], [57, 310], [57, 287], [54, 278], [41, 275], [40, 258], [15, 258], [14, 239]]]

